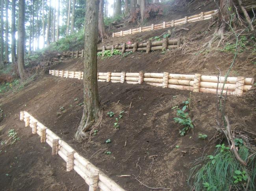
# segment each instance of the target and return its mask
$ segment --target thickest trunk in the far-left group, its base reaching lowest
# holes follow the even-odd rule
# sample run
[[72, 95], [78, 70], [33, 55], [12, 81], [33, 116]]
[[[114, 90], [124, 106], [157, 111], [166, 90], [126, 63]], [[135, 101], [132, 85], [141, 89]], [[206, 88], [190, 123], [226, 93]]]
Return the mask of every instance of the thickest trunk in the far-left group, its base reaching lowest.
[[24, 47], [25, 47], [25, 0], [19, 0], [19, 24], [18, 24], [18, 70], [20, 78], [25, 76]]

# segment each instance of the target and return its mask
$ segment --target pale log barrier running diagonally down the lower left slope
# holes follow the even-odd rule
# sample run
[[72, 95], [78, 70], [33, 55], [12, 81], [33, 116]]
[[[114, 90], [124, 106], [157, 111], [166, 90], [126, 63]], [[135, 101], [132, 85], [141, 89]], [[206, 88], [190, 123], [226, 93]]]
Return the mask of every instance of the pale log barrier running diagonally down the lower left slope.
[[[53, 75], [55, 74], [59, 73], [53, 73]], [[117, 75], [119, 74], [121, 75], [121, 73], [117, 73]], [[35, 134], [35, 131], [39, 134], [41, 142], [46, 142], [52, 147], [52, 155], [59, 155], [66, 162], [67, 171], [74, 170], [85, 180], [85, 183], [89, 186], [89, 191], [99, 189], [102, 191], [125, 191], [28, 112], [20, 111], [20, 120], [24, 120], [25, 127], [30, 126], [32, 128], [33, 134]]]

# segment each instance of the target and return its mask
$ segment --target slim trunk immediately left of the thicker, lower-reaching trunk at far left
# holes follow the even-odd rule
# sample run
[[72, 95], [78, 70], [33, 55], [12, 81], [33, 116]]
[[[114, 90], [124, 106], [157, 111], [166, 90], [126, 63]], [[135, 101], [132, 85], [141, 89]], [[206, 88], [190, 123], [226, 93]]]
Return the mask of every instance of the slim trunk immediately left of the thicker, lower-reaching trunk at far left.
[[15, 26], [15, 12], [16, 12], [16, 1], [12, 0], [11, 5], [11, 62], [14, 64], [16, 62], [16, 26]]

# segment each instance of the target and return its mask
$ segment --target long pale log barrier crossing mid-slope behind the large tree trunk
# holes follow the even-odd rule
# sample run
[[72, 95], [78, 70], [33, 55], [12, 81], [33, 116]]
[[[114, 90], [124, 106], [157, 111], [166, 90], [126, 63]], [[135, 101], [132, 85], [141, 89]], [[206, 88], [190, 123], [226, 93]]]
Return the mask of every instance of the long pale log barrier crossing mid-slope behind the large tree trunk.
[[[49, 70], [49, 74], [62, 76], [63, 78], [78, 78], [83, 80], [83, 72]], [[150, 84], [158, 87], [169, 87], [174, 89], [189, 90], [193, 92], [220, 94], [223, 87], [224, 76], [206, 76], [201, 74], [184, 75], [163, 73], [120, 73], [98, 72], [99, 82], [126, 82], [127, 84]], [[243, 95], [253, 85], [254, 78], [228, 77], [224, 85], [223, 93], [227, 95]], [[217, 90], [218, 88], [218, 90]]]

